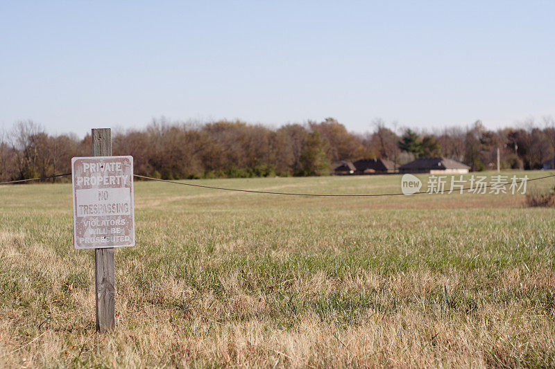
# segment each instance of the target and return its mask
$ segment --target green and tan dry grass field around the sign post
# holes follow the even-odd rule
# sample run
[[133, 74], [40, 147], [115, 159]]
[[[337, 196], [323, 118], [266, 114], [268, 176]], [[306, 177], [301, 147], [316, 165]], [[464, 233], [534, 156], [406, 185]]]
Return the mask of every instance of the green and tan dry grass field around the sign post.
[[[400, 191], [396, 175], [194, 183]], [[96, 334], [71, 185], [0, 186], [0, 367], [555, 366], [555, 213], [523, 195], [136, 182], [135, 206], [117, 327]]]

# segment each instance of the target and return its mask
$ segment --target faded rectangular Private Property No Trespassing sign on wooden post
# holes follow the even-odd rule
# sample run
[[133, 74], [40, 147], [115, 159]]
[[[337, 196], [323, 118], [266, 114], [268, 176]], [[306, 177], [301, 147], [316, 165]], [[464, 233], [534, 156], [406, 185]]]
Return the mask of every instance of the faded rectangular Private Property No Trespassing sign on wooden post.
[[76, 249], [135, 246], [133, 156], [71, 159]]

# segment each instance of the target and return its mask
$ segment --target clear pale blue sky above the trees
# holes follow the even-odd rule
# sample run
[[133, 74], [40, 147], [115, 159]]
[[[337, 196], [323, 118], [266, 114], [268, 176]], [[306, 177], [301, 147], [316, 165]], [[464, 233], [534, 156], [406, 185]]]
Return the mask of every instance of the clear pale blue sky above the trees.
[[555, 1], [0, 3], [0, 129], [555, 116]]

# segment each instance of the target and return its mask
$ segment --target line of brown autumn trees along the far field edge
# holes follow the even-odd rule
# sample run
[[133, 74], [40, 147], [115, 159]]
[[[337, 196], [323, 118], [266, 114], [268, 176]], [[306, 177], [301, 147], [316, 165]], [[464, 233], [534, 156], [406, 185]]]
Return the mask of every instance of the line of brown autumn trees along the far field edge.
[[[497, 148], [505, 169], [538, 169], [553, 159], [554, 118], [518, 126], [490, 130], [478, 120], [465, 128], [420, 132], [376, 119], [371, 132], [357, 134], [334, 118], [278, 128], [162, 118], [144, 129], [115, 131], [112, 152], [132, 155], [136, 174], [162, 179], [318, 176], [330, 174], [337, 161], [383, 158], [402, 165], [421, 156], [444, 156], [479, 171], [494, 168]], [[71, 172], [73, 156], [90, 154], [89, 134], [53, 135], [31, 120], [20, 121], [0, 132], [0, 181]]]

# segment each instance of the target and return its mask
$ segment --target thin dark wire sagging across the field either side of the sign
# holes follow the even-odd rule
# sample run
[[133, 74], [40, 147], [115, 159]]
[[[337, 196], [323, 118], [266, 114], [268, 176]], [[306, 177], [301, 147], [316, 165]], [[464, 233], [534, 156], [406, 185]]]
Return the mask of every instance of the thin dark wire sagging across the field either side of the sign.
[[[12, 184], [12, 183], [22, 183], [22, 182], [28, 182], [28, 181], [40, 181], [40, 180], [43, 180], [43, 179], [66, 177], [66, 176], [70, 176], [70, 175], [71, 175], [71, 173], [53, 174], [51, 176], [46, 176], [46, 177], [37, 177], [37, 178], [30, 178], [30, 179], [18, 179], [17, 181], [0, 182], [0, 185], [6, 185], [6, 184]], [[178, 184], [178, 185], [181, 185], [181, 186], [208, 188], [210, 190], [259, 193], [259, 194], [266, 194], [266, 195], [287, 195], [287, 196], [306, 196], [306, 197], [381, 197], [381, 196], [407, 195], [407, 194], [404, 194], [402, 192], [381, 193], [381, 194], [313, 194], [313, 193], [294, 193], [294, 192], [273, 192], [273, 191], [260, 191], [260, 190], [240, 190], [239, 188], [225, 188], [225, 187], [216, 187], [216, 186], [205, 186], [205, 185], [200, 185], [200, 184], [195, 184], [195, 183], [171, 181], [169, 179], [159, 179], [159, 178], [154, 178], [154, 177], [147, 177], [147, 176], [143, 176], [141, 174], [133, 174], [133, 176], [137, 177], [137, 178], [148, 179], [148, 180], [151, 180], [151, 181], [160, 181], [160, 182]], [[513, 181], [513, 182], [505, 182], [505, 183], [489, 183], [489, 184], [486, 184], [484, 186], [480, 186], [480, 189], [482, 189], [482, 188], [491, 188], [493, 186], [507, 186], [507, 185], [519, 184], [519, 183], [523, 183], [523, 182], [528, 183], [528, 182], [531, 182], [531, 181], [539, 181], [540, 179], [547, 179], [547, 178], [551, 178], [551, 177], [555, 177], [555, 174], [549, 174], [549, 175], [544, 176], [544, 177], [525, 179], [525, 180], [521, 180], [521, 181]], [[461, 193], [461, 191], [468, 191], [468, 190], [475, 190], [475, 188], [472, 188], [472, 187], [458, 188], [456, 190], [453, 190], [453, 191], [447, 192], [447, 193], [448, 194], [450, 194], [450, 193]], [[435, 192], [418, 191], [418, 192], [412, 193], [411, 195], [423, 195], [423, 194], [432, 194], [432, 193], [435, 193]], [[445, 193], [445, 192], [442, 192], [442, 193]]]

